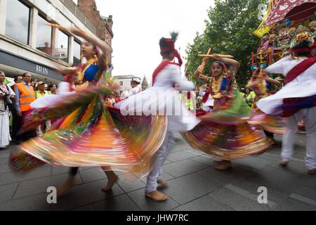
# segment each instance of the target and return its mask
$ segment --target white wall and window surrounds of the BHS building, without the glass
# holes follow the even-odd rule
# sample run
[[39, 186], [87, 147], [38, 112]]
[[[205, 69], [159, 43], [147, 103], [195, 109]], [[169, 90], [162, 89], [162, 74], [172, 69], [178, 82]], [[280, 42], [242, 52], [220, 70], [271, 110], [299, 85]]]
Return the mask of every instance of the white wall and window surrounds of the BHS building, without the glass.
[[[48, 56], [36, 49], [38, 13], [41, 12], [41, 14], [46, 15], [46, 19], [54, 20], [56, 23], [64, 25], [65, 27], [77, 26], [85, 30], [89, 34], [92, 34], [92, 32], [88, 30], [88, 28], [83, 23], [81, 23], [81, 21], [59, 0], [50, 0], [51, 3], [46, 0], [28, 0], [25, 2], [28, 2], [35, 7], [31, 10], [29, 25], [29, 45], [22, 44], [19, 41], [16, 41], [15, 39], [12, 39], [11, 37], [6, 37], [4, 35], [6, 29], [7, 0], [0, 0], [0, 49], [11, 52], [16, 56], [28, 58], [29, 60], [33, 60], [37, 63], [47, 65], [51, 68], [55, 68], [56, 63], [67, 66], [67, 63], [61, 60], [55, 60], [51, 56]], [[55, 29], [53, 29], [53, 34], [55, 34]], [[81, 37], [76, 37], [76, 39], [78, 39], [79, 41], [83, 41]], [[69, 63], [72, 63], [73, 60], [73, 43], [74, 38], [70, 36], [68, 46]]]

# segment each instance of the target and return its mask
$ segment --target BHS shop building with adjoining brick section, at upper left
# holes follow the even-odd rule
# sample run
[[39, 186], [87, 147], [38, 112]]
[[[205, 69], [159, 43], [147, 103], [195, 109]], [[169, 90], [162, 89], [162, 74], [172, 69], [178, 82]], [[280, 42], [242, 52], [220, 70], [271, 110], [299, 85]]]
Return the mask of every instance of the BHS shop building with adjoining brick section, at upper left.
[[102, 17], [94, 0], [0, 0], [0, 70], [6, 77], [29, 72], [58, 84], [63, 77], [56, 68], [80, 63], [84, 39], [46, 23], [79, 27], [112, 49], [112, 16]]

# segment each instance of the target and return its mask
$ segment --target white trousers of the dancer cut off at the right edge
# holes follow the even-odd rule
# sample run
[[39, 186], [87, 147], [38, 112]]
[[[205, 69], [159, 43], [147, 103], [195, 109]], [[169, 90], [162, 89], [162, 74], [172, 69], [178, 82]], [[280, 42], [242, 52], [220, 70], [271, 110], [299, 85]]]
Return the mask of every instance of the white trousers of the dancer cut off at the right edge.
[[293, 157], [294, 135], [298, 122], [302, 119], [306, 129], [305, 166], [308, 169], [316, 169], [316, 107], [300, 110], [286, 118], [287, 129], [282, 138], [282, 160], [289, 162]]

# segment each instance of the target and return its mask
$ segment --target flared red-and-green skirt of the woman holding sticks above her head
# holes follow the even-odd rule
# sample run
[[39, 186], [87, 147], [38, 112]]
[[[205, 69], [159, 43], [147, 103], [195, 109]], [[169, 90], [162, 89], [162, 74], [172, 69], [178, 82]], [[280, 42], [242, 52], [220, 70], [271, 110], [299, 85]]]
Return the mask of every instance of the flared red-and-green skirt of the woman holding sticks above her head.
[[251, 109], [237, 93], [212, 113], [199, 117], [202, 122], [182, 136], [192, 148], [222, 160], [263, 153], [272, 141], [265, 138], [263, 131], [247, 123], [250, 115]]

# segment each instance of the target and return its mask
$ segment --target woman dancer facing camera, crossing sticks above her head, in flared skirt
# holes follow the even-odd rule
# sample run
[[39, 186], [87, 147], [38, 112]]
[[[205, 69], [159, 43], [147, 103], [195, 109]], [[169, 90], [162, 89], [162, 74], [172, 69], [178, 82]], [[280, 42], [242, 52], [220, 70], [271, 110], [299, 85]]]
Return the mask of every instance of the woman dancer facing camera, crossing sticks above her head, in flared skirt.
[[[205, 57], [195, 77], [208, 84], [207, 94], [211, 94], [214, 99], [213, 112], [199, 117], [202, 122], [182, 135], [192, 148], [220, 158], [216, 162], [216, 169], [230, 169], [230, 160], [262, 153], [271, 141], [246, 122], [251, 115], [251, 108], [236, 90], [235, 75], [239, 63], [218, 54], [212, 57], [216, 62], [211, 65], [211, 76], [202, 75], [209, 60], [209, 57]], [[230, 65], [230, 70], [225, 64]]]

